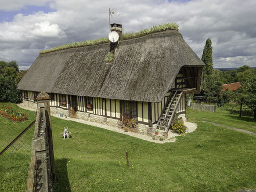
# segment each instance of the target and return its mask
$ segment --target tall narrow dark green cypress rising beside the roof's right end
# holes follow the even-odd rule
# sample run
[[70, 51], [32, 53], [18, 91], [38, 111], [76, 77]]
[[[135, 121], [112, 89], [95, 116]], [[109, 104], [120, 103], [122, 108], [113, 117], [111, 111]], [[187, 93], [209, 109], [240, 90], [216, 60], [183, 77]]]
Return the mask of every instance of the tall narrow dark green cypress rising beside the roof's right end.
[[213, 70], [213, 63], [212, 63], [212, 46], [211, 46], [211, 39], [208, 38], [205, 42], [204, 51], [201, 59], [205, 66], [204, 66], [204, 74], [211, 75]]

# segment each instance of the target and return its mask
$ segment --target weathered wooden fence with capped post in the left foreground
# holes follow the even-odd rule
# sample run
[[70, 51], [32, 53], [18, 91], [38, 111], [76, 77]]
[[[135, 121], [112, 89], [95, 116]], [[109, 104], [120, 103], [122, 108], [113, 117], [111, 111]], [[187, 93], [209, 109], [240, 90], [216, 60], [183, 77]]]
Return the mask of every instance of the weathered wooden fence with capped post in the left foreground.
[[53, 191], [55, 166], [52, 143], [50, 96], [37, 96], [37, 118], [32, 140], [31, 162], [28, 171], [27, 192]]

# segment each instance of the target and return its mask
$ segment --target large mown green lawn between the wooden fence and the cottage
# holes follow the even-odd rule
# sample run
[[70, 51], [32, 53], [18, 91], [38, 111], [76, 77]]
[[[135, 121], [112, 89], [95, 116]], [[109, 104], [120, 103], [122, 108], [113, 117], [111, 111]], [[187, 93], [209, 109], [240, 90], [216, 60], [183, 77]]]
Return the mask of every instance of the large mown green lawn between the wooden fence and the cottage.
[[[223, 109], [225, 110], [225, 109]], [[26, 110], [23, 110], [26, 111]], [[219, 121], [219, 111], [208, 114]], [[224, 112], [223, 112], [224, 113]], [[228, 112], [227, 112], [228, 113]], [[204, 115], [206, 113], [203, 113]], [[203, 122], [175, 143], [156, 144], [52, 117], [56, 191], [237, 191], [256, 188], [256, 137]], [[206, 116], [204, 118], [207, 118]], [[222, 118], [223, 124], [229, 117]], [[251, 122], [236, 119], [240, 124]], [[214, 121], [213, 121], [214, 122]], [[224, 124], [223, 124], [224, 125]], [[64, 126], [70, 139], [60, 136]], [[126, 165], [125, 151], [130, 166]], [[19, 175], [26, 175], [19, 173]], [[2, 174], [1, 174], [2, 175]], [[5, 191], [26, 189], [2, 175]], [[20, 181], [19, 181], [20, 183]], [[3, 188], [8, 186], [9, 188]]]

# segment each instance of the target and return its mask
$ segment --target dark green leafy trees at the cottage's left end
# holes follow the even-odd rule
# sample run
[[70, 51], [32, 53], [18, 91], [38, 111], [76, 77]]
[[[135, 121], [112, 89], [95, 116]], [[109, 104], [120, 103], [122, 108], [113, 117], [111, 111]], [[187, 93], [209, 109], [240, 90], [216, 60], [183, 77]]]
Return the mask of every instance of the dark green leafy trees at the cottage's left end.
[[17, 84], [26, 72], [27, 70], [19, 70], [16, 61], [0, 61], [0, 102], [21, 102]]

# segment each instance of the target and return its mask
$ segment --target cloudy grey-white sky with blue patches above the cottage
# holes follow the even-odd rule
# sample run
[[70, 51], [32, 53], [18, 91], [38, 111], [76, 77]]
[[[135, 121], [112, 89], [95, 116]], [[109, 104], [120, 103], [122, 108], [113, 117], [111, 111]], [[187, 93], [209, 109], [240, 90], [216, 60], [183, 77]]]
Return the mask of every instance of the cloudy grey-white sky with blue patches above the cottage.
[[40, 50], [107, 37], [111, 23], [123, 32], [176, 23], [201, 58], [211, 38], [214, 68], [256, 67], [255, 0], [0, 0], [0, 60], [33, 64]]

